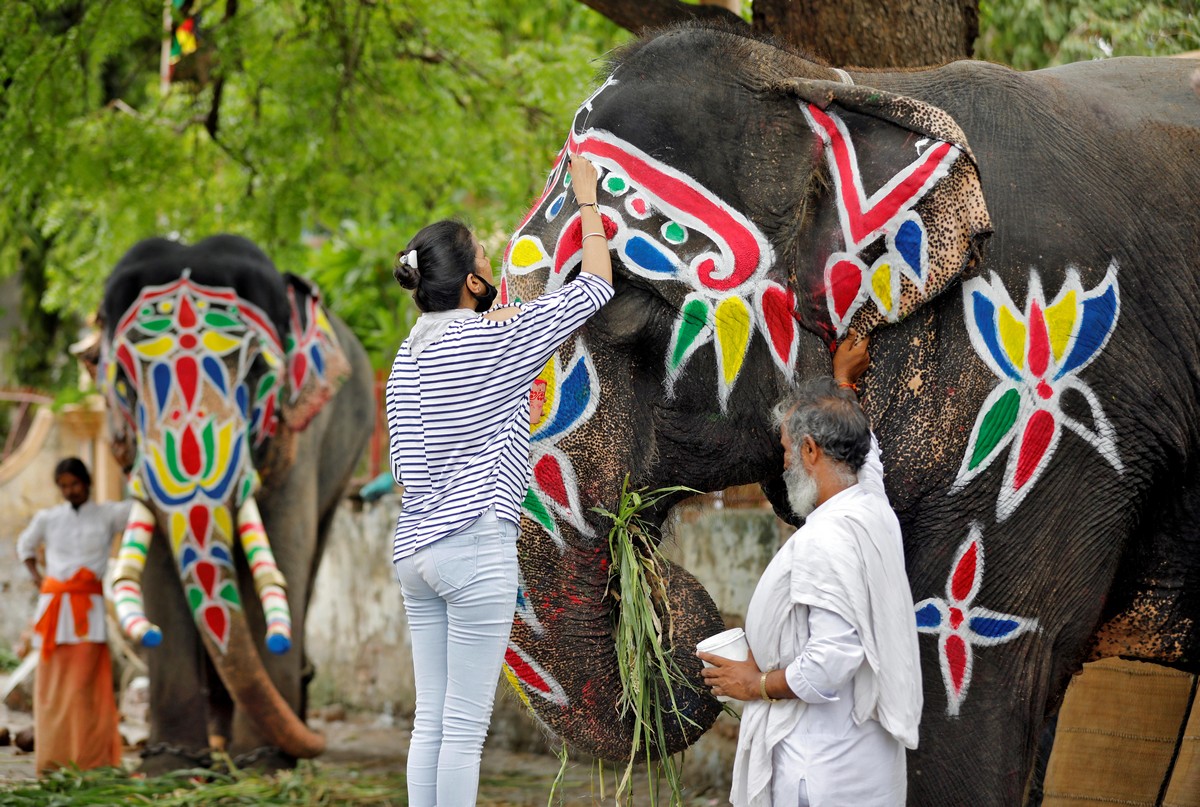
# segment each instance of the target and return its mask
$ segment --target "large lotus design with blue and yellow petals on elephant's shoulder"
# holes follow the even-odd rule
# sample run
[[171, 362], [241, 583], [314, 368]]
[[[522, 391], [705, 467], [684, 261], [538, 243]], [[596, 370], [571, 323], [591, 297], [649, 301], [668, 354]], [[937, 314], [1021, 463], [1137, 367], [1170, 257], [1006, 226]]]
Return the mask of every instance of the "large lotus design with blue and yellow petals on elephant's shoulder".
[[[1118, 473], [1123, 466], [1115, 432], [1100, 399], [1079, 372], [1104, 349], [1120, 313], [1116, 263], [1085, 292], [1074, 269], [1058, 295], [1046, 304], [1037, 273], [1030, 276], [1024, 311], [1013, 304], [1000, 277], [972, 279], [962, 288], [971, 342], [1001, 379], [976, 418], [962, 466], [952, 488], [961, 490], [1010, 444], [996, 518], [1013, 514], [1054, 456], [1063, 428], [1082, 437]], [[1079, 395], [1091, 425], [1068, 416], [1066, 394]]]

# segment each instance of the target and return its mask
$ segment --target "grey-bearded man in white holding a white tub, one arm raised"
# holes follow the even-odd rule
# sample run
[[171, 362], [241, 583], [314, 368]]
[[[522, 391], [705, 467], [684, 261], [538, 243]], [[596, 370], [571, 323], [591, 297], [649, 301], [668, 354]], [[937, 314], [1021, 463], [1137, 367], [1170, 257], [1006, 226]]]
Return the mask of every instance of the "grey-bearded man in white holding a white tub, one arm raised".
[[834, 377], [780, 408], [784, 479], [805, 519], [768, 564], [746, 612], [751, 654], [714, 666], [713, 694], [748, 701], [734, 807], [895, 807], [917, 747], [920, 664], [900, 524], [878, 444], [852, 390], [868, 366], [853, 331]]

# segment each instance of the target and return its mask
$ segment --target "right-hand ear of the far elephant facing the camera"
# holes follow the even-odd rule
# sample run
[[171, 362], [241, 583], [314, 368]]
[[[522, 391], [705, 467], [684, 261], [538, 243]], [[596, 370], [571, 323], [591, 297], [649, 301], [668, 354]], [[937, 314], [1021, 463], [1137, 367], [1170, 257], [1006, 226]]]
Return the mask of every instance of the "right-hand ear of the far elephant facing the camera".
[[283, 423], [302, 431], [350, 375], [350, 365], [317, 286], [292, 273], [283, 277], [289, 321], [283, 337], [287, 381], [280, 411]]

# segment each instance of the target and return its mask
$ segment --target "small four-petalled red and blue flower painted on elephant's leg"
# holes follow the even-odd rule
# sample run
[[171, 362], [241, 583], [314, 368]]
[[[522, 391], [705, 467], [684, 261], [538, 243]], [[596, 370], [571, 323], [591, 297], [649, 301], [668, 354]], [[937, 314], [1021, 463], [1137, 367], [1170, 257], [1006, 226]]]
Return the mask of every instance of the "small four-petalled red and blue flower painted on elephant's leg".
[[954, 554], [946, 579], [946, 599], [930, 597], [914, 606], [917, 630], [936, 635], [946, 685], [946, 713], [958, 715], [971, 686], [977, 646], [1001, 645], [1037, 630], [1037, 620], [1000, 614], [973, 605], [983, 585], [983, 536], [978, 525]]

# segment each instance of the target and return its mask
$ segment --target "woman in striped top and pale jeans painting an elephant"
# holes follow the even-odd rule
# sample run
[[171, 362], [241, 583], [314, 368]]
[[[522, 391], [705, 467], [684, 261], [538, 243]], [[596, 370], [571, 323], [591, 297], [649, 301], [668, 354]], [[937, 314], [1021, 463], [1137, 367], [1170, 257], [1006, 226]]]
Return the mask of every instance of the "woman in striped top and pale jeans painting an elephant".
[[488, 310], [496, 298], [491, 264], [454, 221], [419, 232], [395, 271], [424, 312], [388, 381], [392, 470], [404, 485], [392, 562], [416, 679], [408, 748], [414, 807], [475, 803], [517, 593], [529, 387], [558, 346], [612, 297], [596, 172], [576, 159], [571, 173], [587, 225], [575, 282], [524, 306]]

